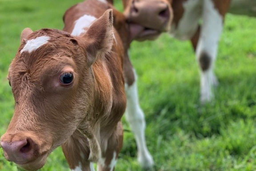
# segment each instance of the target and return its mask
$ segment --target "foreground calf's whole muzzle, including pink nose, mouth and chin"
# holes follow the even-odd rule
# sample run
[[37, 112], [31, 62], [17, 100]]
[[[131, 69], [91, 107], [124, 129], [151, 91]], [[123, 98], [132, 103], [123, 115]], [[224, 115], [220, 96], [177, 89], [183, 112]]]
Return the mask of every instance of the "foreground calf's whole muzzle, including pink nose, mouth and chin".
[[[8, 161], [15, 162], [28, 171], [43, 167], [49, 150], [44, 141], [26, 132], [6, 133], [1, 137], [0, 145]], [[39, 150], [42, 146], [44, 147]]]

